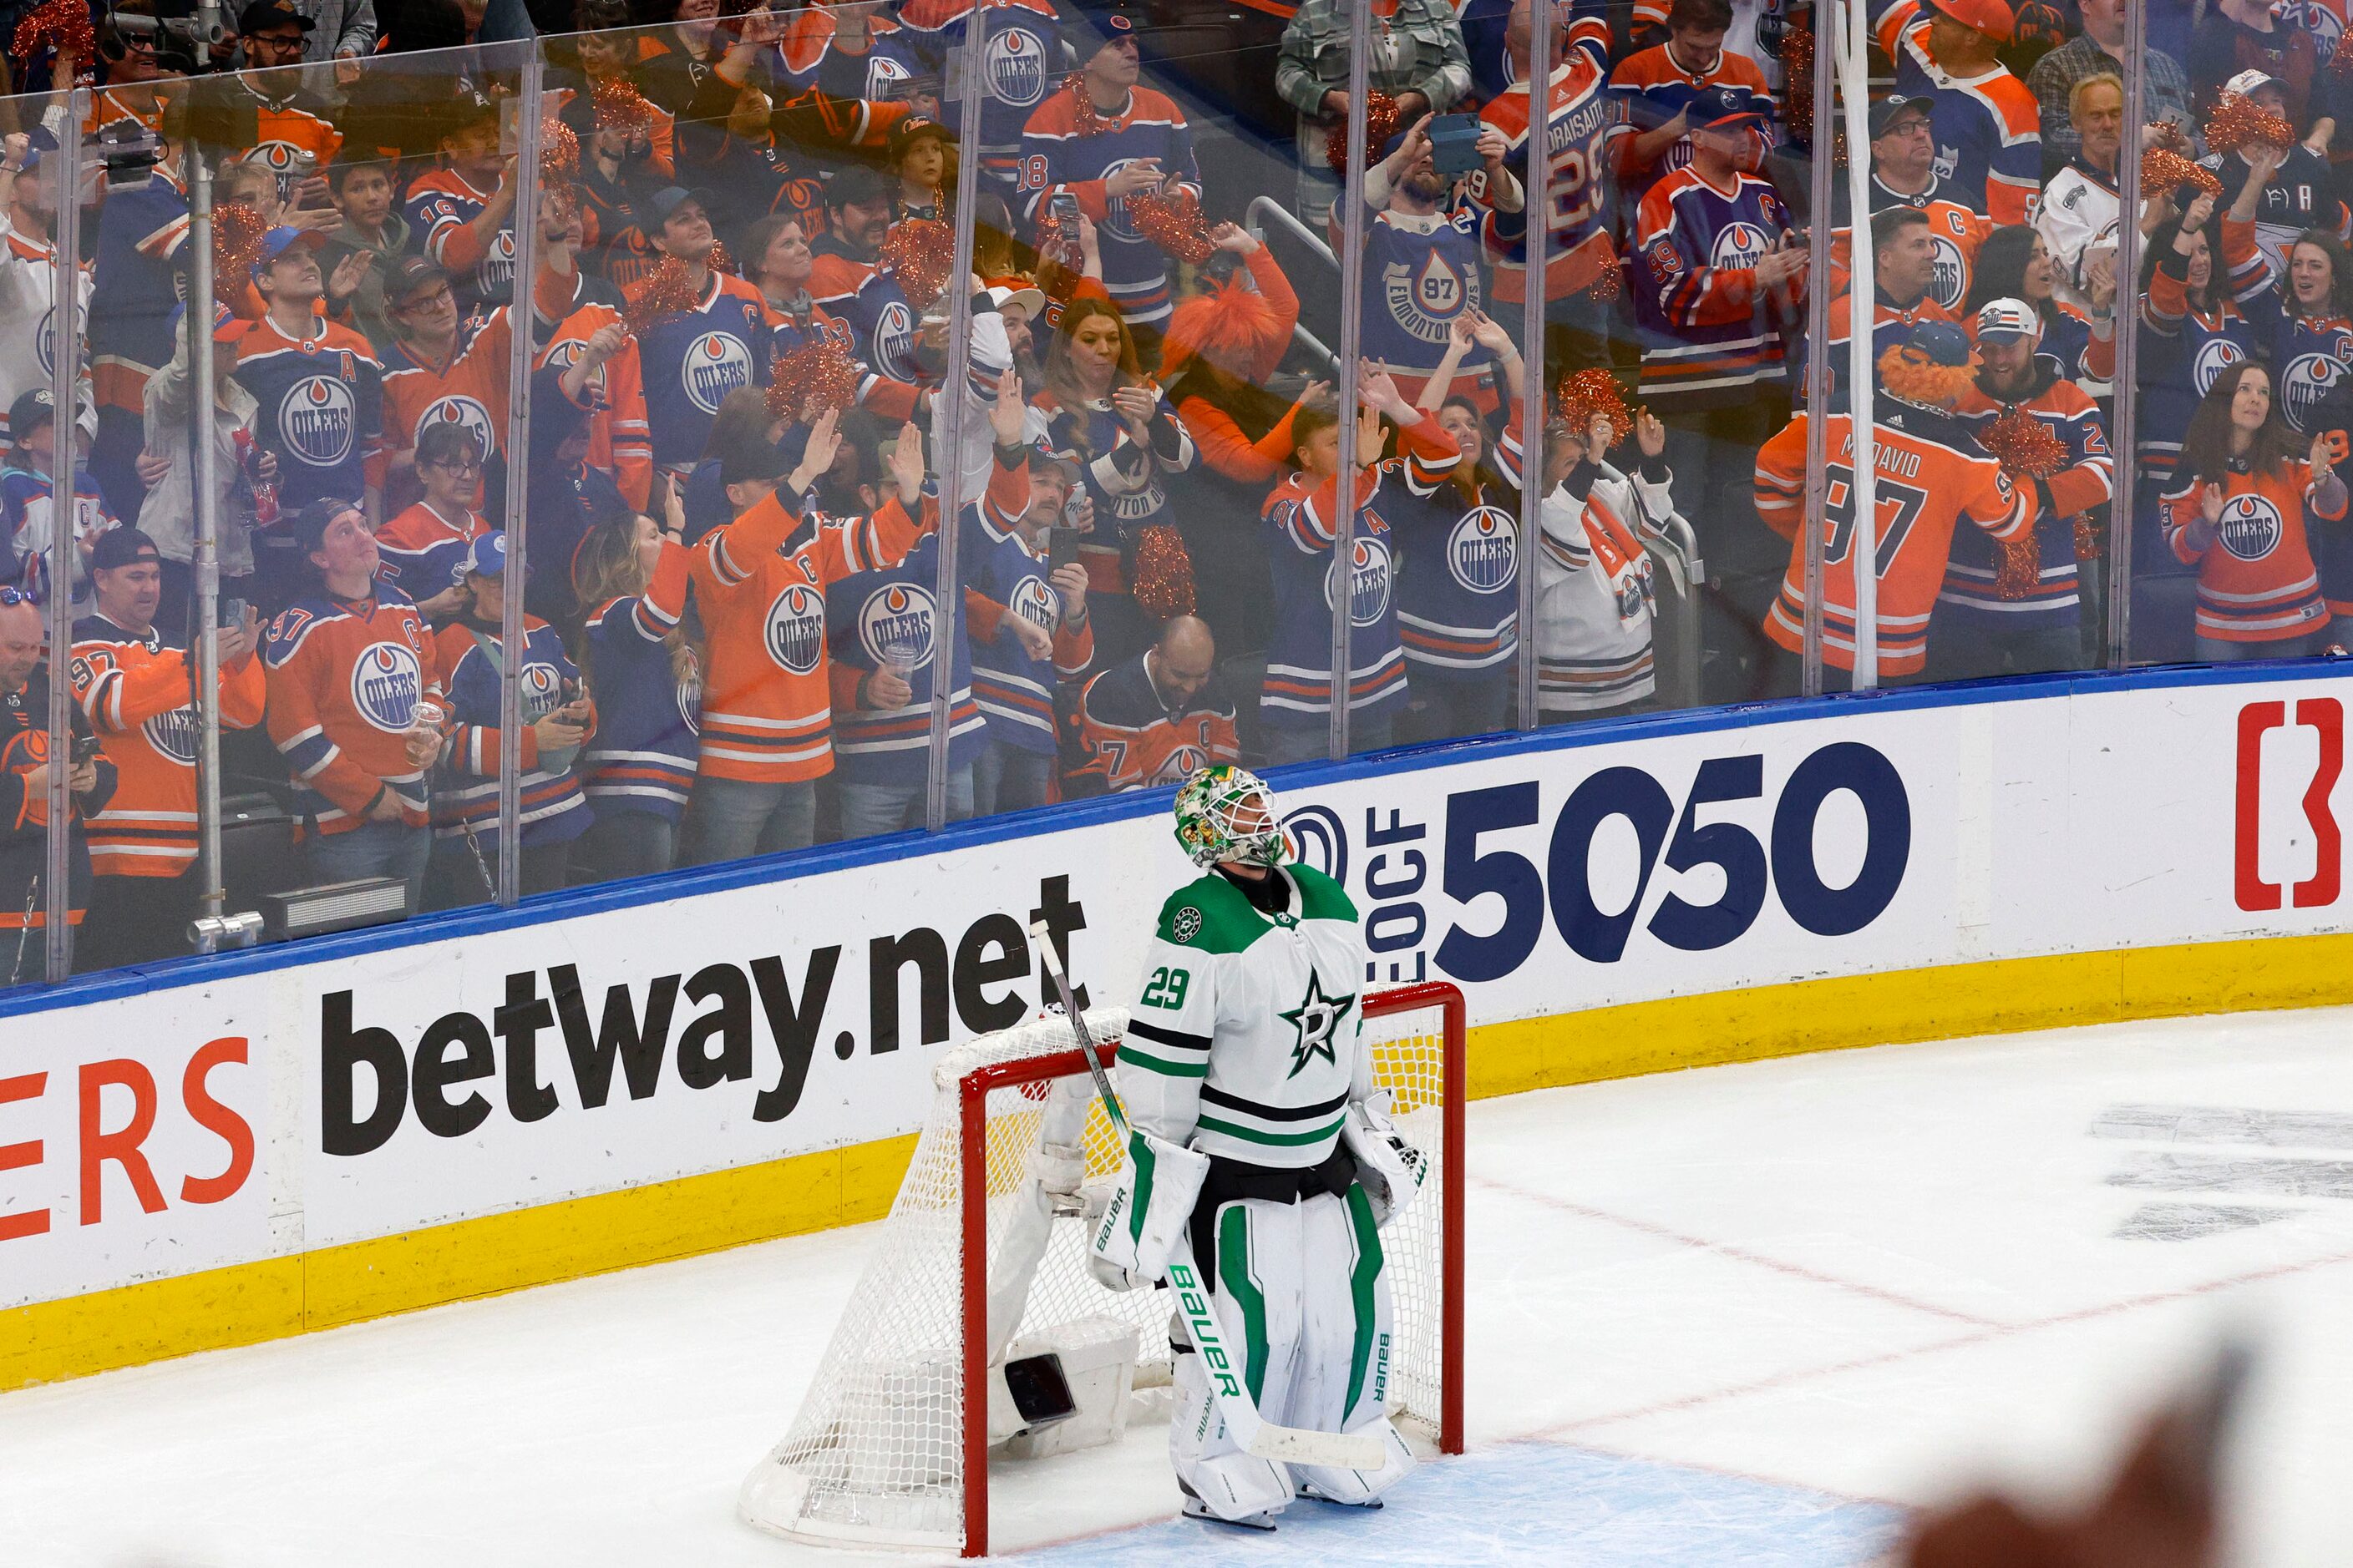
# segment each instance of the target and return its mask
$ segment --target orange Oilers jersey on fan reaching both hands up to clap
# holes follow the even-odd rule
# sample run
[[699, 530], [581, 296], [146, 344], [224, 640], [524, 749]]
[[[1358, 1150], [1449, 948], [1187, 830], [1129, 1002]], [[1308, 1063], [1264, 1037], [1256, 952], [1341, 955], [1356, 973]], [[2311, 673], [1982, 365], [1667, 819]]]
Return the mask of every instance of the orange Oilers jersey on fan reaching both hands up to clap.
[[826, 585], [896, 567], [936, 522], [896, 501], [873, 517], [800, 512], [779, 489], [694, 545], [704, 616], [699, 773], [793, 783], [833, 771]]

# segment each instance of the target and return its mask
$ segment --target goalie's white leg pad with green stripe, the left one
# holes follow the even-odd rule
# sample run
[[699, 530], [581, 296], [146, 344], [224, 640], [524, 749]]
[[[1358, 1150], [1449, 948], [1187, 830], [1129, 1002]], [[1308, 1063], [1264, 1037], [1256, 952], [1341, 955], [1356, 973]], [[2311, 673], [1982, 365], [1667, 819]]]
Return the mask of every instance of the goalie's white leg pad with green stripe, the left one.
[[1212, 1378], [1240, 1380], [1268, 1420], [1282, 1403], [1299, 1359], [1301, 1211], [1297, 1204], [1228, 1199], [1209, 1215], [1195, 1262], [1212, 1276], [1209, 1302], [1238, 1363], [1207, 1366], [1176, 1354], [1176, 1408], [1169, 1415], [1169, 1462], [1176, 1479], [1219, 1519], [1280, 1512], [1292, 1500], [1287, 1465], [1242, 1453], [1226, 1429]]

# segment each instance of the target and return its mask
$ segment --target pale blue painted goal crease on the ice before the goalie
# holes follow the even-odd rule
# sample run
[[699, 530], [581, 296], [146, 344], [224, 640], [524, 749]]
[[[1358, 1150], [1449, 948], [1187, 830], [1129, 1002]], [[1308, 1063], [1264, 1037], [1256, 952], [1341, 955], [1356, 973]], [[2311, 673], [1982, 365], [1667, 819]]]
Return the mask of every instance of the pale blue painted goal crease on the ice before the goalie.
[[1861, 1568], [1897, 1544], [1904, 1512], [1748, 1476], [1499, 1443], [1417, 1469], [1367, 1514], [1294, 1502], [1273, 1535], [1165, 1523], [1012, 1554], [1024, 1568], [1184, 1561], [1282, 1568]]

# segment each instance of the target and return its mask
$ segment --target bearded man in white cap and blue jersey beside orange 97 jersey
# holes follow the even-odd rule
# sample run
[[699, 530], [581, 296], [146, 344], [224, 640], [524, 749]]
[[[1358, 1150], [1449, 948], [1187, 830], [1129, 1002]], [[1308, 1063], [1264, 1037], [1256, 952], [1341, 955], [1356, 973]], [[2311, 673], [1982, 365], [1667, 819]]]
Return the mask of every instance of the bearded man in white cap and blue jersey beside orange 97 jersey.
[[2005, 545], [1979, 529], [1953, 534], [1953, 559], [1937, 592], [1929, 630], [1929, 679], [2031, 675], [2082, 665], [2082, 592], [2075, 534], [2092, 529], [2115, 489], [2115, 458], [2099, 404], [2035, 353], [2040, 313], [2021, 299], [1995, 299], [1977, 313], [1977, 386], [1955, 414], [1988, 451], [2007, 449], [1998, 423], [2031, 418], [2066, 456], [2049, 473], [2012, 473], [2035, 494], [2035, 522]]

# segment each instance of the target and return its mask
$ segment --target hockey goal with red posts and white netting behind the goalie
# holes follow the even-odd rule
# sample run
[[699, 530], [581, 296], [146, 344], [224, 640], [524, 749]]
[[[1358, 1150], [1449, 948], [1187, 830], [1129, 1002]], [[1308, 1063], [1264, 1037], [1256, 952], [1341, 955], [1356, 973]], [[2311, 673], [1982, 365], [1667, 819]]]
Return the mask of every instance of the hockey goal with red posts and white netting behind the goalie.
[[[1421, 983], [1367, 992], [1374, 1081], [1431, 1182], [1381, 1241], [1395, 1298], [1391, 1413], [1440, 1453], [1464, 1450], [1464, 994]], [[1393, 1020], [1417, 1020], [1395, 1027]], [[1374, 1025], [1391, 1023], [1379, 1030]], [[1096, 1058], [1118, 1065], [1127, 1009], [1087, 1009]], [[948, 1051], [906, 1180], [800, 1415], [744, 1479], [744, 1519], [838, 1547], [988, 1554], [991, 1385], [1009, 1345], [1078, 1331], [1132, 1335], [1167, 1361], [1165, 1291], [1118, 1293], [1087, 1272], [1085, 1218], [1045, 1180], [1054, 1147], [1085, 1178], [1125, 1154], [1066, 1018], [1045, 1016]], [[1071, 1185], [1068, 1154], [1061, 1185]], [[1431, 1192], [1435, 1187], [1435, 1192]]]

